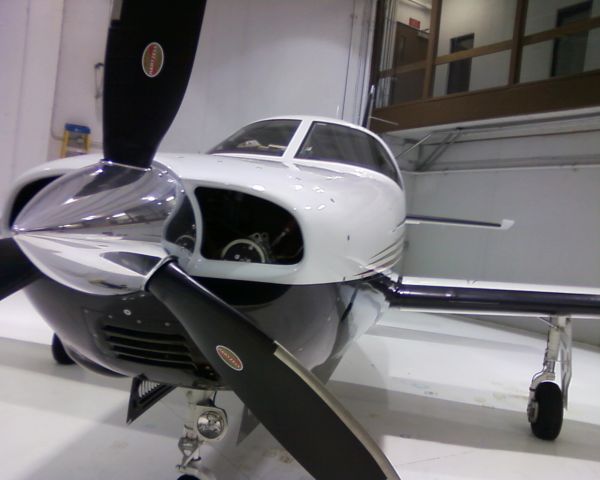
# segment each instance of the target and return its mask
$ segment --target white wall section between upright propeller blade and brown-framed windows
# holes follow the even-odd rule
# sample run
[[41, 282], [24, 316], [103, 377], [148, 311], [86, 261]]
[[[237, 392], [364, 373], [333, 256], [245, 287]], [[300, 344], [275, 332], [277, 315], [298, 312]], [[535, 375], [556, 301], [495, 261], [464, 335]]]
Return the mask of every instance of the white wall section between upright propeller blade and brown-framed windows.
[[357, 121], [370, 18], [368, 0], [209, 1], [192, 81], [163, 148], [203, 151], [274, 115]]

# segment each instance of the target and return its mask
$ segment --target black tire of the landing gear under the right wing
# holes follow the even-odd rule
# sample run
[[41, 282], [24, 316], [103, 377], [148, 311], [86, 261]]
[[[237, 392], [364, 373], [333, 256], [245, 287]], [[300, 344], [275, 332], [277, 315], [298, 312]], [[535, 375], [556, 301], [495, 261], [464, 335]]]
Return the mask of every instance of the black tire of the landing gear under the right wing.
[[542, 440], [558, 437], [563, 421], [563, 397], [556, 383], [542, 382], [535, 389], [534, 418], [530, 419], [531, 431]]

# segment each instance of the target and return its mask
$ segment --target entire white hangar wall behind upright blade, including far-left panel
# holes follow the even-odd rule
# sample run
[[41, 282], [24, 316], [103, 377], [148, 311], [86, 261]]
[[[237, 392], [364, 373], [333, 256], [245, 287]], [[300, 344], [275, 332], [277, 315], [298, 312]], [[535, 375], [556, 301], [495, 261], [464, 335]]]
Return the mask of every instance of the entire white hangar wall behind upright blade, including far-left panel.
[[[58, 157], [66, 122], [90, 126], [101, 148], [94, 67], [111, 5], [0, 2], [0, 198], [24, 170]], [[286, 113], [358, 121], [373, 16], [369, 0], [209, 1], [186, 98], [161, 148], [205, 151], [245, 123]]]

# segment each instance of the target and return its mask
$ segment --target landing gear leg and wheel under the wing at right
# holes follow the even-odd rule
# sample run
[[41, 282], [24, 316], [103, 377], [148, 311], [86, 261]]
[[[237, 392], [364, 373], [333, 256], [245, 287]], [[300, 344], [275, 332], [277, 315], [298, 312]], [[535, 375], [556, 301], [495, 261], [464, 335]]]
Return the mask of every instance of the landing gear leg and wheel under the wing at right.
[[[568, 405], [573, 335], [571, 319], [567, 316], [554, 316], [544, 321], [550, 326], [544, 366], [531, 380], [527, 417], [536, 437], [554, 440], [562, 428], [563, 409]], [[557, 362], [561, 366], [560, 387], [554, 383]]]

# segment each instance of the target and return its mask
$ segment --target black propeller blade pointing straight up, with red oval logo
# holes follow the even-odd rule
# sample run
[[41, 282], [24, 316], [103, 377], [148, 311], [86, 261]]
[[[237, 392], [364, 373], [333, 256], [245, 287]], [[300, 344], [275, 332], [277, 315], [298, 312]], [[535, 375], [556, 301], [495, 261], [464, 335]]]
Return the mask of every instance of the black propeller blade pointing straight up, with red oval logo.
[[118, 0], [104, 67], [104, 156], [148, 168], [187, 87], [206, 0]]

